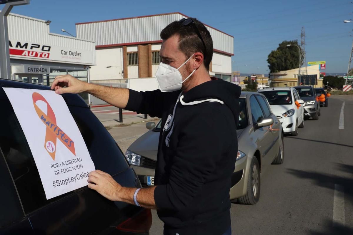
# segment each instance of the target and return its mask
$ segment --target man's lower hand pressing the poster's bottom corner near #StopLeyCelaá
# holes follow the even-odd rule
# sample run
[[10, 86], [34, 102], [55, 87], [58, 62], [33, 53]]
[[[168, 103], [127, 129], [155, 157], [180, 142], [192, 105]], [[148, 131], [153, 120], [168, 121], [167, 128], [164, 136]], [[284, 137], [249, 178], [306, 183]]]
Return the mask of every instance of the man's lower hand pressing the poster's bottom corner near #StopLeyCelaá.
[[88, 187], [96, 190], [103, 197], [111, 201], [120, 201], [119, 191], [122, 186], [118, 184], [108, 173], [100, 170], [88, 174]]

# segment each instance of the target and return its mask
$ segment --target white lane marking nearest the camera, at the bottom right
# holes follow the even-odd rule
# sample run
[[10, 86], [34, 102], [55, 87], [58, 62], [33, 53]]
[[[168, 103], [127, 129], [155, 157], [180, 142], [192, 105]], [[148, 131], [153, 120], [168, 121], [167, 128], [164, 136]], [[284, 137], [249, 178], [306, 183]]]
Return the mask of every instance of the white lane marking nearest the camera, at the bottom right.
[[345, 225], [345, 194], [343, 186], [335, 184], [333, 196], [333, 226]]

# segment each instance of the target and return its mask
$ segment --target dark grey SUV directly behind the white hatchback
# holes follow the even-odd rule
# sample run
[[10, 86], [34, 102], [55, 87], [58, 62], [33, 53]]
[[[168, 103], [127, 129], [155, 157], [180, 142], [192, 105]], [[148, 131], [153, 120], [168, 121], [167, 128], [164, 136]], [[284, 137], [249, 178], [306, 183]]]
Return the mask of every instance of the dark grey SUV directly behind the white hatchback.
[[312, 86], [296, 86], [294, 87], [299, 94], [300, 99], [304, 100], [304, 117], [318, 120], [320, 113], [320, 101], [316, 100], [316, 93]]

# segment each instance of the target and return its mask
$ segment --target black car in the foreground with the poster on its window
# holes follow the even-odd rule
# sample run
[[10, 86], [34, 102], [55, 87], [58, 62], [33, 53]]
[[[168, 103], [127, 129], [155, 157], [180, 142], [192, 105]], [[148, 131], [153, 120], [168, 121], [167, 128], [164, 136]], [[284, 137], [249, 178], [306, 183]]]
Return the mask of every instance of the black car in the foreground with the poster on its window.
[[[50, 87], [0, 79], [0, 234], [149, 234], [151, 211], [112, 202], [87, 186], [47, 200], [23, 130], [2, 87]], [[122, 186], [140, 181], [109, 132], [87, 104], [62, 95], [94, 162]]]

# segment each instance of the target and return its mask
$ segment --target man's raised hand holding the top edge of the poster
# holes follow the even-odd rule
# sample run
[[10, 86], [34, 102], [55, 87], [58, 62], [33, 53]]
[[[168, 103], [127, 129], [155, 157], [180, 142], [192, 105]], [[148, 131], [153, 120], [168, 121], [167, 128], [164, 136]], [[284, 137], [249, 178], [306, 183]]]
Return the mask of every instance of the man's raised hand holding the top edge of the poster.
[[78, 80], [71, 75], [61, 75], [55, 77], [52, 84], [52, 90], [55, 90], [56, 94], [77, 94], [87, 91], [88, 86], [89, 84], [87, 82]]

